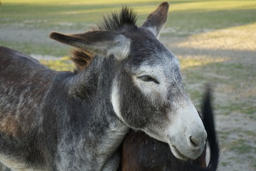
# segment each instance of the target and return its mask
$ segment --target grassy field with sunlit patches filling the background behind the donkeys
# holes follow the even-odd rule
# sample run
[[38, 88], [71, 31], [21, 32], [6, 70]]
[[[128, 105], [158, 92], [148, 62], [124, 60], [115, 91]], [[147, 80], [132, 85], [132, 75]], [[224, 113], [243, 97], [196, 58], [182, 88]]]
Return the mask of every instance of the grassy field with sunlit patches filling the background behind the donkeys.
[[[41, 56], [50, 68], [72, 70], [67, 57], [70, 47], [50, 40], [50, 31], [87, 31], [103, 14], [124, 4], [137, 11], [140, 25], [160, 3], [2, 0], [0, 45]], [[219, 170], [256, 170], [256, 1], [169, 3], [161, 42], [181, 61], [183, 80], [196, 106], [200, 106], [205, 83], [213, 85], [222, 150]]]

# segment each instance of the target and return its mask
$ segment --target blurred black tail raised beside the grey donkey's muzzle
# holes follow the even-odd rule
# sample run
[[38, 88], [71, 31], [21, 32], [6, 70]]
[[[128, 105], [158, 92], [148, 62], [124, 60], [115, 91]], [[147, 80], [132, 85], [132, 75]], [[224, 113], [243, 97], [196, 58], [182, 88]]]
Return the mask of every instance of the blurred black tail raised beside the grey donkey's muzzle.
[[206, 168], [198, 165], [189, 165], [186, 170], [188, 171], [215, 171], [218, 167], [220, 149], [218, 146], [218, 138], [216, 137], [213, 109], [211, 107], [211, 93], [210, 87], [206, 88], [206, 93], [203, 98], [202, 104], [203, 124], [208, 134], [208, 143], [210, 146], [210, 161]]

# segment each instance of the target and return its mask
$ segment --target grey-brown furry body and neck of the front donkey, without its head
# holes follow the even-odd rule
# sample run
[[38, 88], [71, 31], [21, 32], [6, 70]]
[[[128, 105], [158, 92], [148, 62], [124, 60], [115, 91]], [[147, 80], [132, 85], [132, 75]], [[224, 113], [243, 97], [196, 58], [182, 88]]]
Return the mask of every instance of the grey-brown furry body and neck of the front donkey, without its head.
[[[105, 85], [113, 72], [105, 65], [113, 61], [95, 59], [75, 74], [52, 71], [9, 48], [0, 51], [0, 160], [14, 170], [102, 170], [128, 130], [112, 110], [111, 84]], [[77, 98], [80, 86], [90, 86], [90, 93]]]

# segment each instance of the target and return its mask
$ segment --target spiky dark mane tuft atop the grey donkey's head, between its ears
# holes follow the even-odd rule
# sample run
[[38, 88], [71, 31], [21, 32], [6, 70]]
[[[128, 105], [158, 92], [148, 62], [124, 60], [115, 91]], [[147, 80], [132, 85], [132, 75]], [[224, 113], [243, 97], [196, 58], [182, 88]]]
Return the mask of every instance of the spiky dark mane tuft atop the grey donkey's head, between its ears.
[[110, 16], [104, 16], [102, 23], [97, 24], [97, 29], [117, 31], [125, 25], [136, 26], [136, 21], [137, 14], [127, 6], [123, 6], [119, 14], [114, 12]]

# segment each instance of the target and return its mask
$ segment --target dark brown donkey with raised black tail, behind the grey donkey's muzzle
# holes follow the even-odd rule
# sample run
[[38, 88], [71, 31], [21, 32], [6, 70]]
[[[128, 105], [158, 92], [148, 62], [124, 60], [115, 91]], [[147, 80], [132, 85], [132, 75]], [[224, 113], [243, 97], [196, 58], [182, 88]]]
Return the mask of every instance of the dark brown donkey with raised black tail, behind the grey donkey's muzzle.
[[206, 167], [206, 149], [196, 160], [178, 160], [169, 150], [169, 145], [150, 138], [141, 131], [130, 130], [122, 143], [122, 171], [184, 171], [184, 170], [216, 170], [218, 166], [219, 148], [210, 106], [210, 92], [206, 93], [202, 106], [203, 123], [208, 133], [210, 145], [210, 162]]

